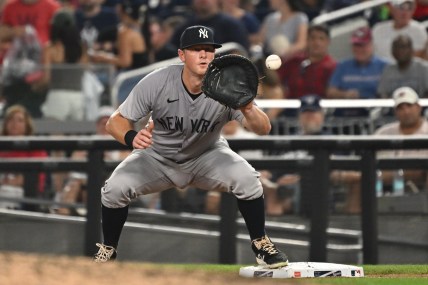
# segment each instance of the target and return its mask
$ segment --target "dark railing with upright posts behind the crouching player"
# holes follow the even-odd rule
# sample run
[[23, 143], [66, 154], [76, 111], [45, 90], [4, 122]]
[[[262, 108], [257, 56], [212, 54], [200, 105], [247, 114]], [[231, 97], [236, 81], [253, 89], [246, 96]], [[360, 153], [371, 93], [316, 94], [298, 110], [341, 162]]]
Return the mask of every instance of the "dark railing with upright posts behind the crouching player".
[[[377, 200], [375, 193], [375, 172], [376, 169], [395, 168], [422, 168], [428, 166], [428, 158], [416, 159], [383, 159], [376, 160], [375, 152], [381, 149], [426, 149], [428, 137], [426, 136], [305, 136], [305, 137], [262, 137], [258, 139], [230, 139], [229, 144], [232, 149], [248, 150], [311, 150], [313, 158], [305, 160], [284, 160], [278, 158], [263, 158], [250, 160], [256, 169], [283, 169], [284, 171], [310, 170], [314, 178], [311, 193], [313, 199], [311, 209], [316, 215], [311, 215], [310, 232], [310, 254], [311, 261], [326, 261], [327, 252], [327, 221], [328, 221], [328, 197], [329, 197], [329, 173], [331, 169], [354, 169], [361, 171], [361, 183], [364, 185], [361, 191], [362, 202], [362, 233], [363, 233], [363, 259], [364, 263], [376, 264], [378, 262], [377, 245]], [[114, 167], [103, 160], [105, 150], [123, 149], [124, 146], [116, 141], [100, 137], [26, 137], [25, 139], [1, 138], [0, 150], [88, 150], [89, 157], [85, 161], [56, 161], [56, 160], [2, 160], [0, 170], [2, 171], [22, 171], [35, 173], [39, 171], [63, 171], [78, 169], [88, 173], [88, 202], [87, 202], [87, 223], [85, 235], [85, 254], [91, 255], [95, 248], [94, 244], [100, 240], [100, 187], [103, 184], [103, 169]], [[336, 151], [358, 151], [359, 159], [331, 159], [330, 154]], [[28, 189], [33, 189], [34, 185], [26, 181]], [[34, 193], [33, 193], [34, 195]], [[27, 195], [27, 196], [31, 196]], [[232, 199], [232, 196], [227, 196]], [[224, 208], [223, 208], [224, 207]], [[233, 260], [234, 248], [227, 244], [234, 244], [236, 233], [236, 219], [230, 216], [233, 211], [230, 208], [236, 207], [235, 203], [225, 202], [221, 210], [222, 232], [220, 247], [220, 259], [223, 261]], [[236, 208], [235, 208], [236, 209]], [[227, 213], [227, 214], [226, 214]], [[231, 220], [232, 219], [232, 220]]]

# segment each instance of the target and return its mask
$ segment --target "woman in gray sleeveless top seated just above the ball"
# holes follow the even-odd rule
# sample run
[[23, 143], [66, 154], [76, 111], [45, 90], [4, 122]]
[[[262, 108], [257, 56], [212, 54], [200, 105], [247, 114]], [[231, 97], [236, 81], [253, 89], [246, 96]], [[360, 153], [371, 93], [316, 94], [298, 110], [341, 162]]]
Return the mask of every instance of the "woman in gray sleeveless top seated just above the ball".
[[260, 30], [264, 54], [289, 58], [303, 51], [307, 45], [308, 17], [297, 11], [294, 1], [270, 1], [274, 12], [268, 14]]

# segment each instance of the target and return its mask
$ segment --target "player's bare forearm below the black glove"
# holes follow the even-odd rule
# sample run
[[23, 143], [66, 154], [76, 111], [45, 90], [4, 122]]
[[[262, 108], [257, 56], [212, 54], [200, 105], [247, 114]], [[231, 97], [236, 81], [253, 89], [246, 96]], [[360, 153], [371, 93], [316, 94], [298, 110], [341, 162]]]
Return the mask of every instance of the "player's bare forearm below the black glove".
[[251, 102], [245, 107], [241, 108], [244, 114], [243, 125], [244, 127], [258, 135], [267, 135], [270, 132], [270, 120], [265, 112]]

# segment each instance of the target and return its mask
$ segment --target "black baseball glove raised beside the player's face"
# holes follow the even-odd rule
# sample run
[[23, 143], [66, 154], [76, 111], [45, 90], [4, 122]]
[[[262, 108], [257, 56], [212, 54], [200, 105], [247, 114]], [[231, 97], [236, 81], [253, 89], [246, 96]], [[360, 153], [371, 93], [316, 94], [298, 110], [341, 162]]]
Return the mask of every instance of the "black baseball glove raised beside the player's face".
[[256, 97], [258, 85], [256, 66], [244, 56], [228, 54], [211, 61], [202, 80], [202, 91], [221, 104], [238, 109]]

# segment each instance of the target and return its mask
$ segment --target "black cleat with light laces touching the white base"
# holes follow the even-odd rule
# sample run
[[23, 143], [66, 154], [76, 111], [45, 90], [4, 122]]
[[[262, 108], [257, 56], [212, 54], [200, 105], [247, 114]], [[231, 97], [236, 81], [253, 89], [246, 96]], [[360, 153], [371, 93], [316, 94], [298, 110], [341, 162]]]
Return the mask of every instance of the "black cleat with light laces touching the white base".
[[266, 235], [253, 240], [251, 248], [256, 254], [257, 263], [265, 268], [279, 268], [288, 265], [287, 255], [277, 249]]

